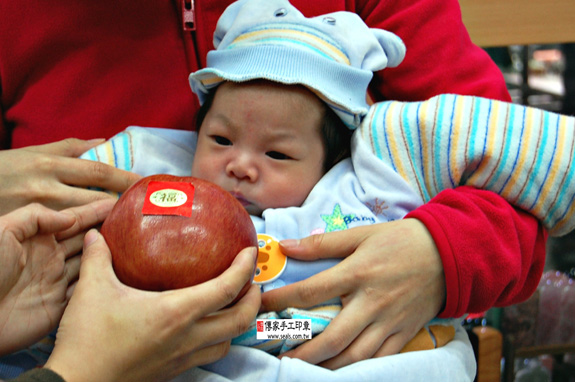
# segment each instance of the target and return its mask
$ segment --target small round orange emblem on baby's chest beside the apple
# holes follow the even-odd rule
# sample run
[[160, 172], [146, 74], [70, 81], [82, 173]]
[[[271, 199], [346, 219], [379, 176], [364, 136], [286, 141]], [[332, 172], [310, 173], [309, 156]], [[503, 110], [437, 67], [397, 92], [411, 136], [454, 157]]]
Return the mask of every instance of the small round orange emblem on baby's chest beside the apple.
[[281, 276], [287, 265], [287, 257], [273, 237], [258, 234], [258, 262], [254, 282], [266, 284]]

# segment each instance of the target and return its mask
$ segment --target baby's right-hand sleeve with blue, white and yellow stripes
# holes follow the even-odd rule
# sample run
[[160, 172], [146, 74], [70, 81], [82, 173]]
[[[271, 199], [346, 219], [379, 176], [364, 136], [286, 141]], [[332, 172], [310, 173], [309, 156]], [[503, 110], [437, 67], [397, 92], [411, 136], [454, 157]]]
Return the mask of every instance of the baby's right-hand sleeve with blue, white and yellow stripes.
[[381, 102], [358, 130], [424, 201], [468, 185], [536, 216], [552, 236], [575, 228], [575, 118], [459, 95]]

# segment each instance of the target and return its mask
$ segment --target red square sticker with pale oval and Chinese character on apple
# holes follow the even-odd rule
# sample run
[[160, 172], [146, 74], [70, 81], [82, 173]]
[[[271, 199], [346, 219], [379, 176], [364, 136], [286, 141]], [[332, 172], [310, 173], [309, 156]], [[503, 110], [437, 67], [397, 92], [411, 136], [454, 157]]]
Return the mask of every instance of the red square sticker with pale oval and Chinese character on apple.
[[186, 182], [158, 182], [148, 184], [142, 214], [192, 216], [194, 185]]

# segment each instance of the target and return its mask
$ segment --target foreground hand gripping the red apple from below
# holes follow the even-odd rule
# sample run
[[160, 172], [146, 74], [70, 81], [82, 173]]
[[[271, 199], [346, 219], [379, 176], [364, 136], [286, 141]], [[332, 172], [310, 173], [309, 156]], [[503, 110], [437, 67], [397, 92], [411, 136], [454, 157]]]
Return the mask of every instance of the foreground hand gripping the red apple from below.
[[203, 284], [141, 291], [117, 279], [104, 238], [88, 232], [80, 279], [46, 368], [67, 382], [167, 381], [220, 359], [258, 312], [255, 285], [220, 310], [252, 277], [255, 256], [255, 248], [244, 249], [223, 274]]

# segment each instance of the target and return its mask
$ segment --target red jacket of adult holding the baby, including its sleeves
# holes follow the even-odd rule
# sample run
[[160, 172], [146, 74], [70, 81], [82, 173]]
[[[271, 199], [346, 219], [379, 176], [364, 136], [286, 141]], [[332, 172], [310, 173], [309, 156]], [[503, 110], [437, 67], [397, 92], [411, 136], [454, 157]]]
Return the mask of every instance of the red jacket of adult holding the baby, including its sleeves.
[[[194, 32], [182, 27], [183, 1], [191, 0], [0, 2], [3, 147], [109, 138], [128, 125], [192, 129], [198, 103], [187, 77], [205, 64], [217, 19], [231, 1], [194, 0]], [[292, 3], [307, 16], [354, 11], [404, 40], [405, 61], [373, 80], [375, 100], [440, 93], [509, 100], [501, 73], [471, 43], [457, 0]], [[441, 251], [444, 315], [526, 298], [544, 258], [536, 220], [485, 191], [448, 195], [412, 214]]]

